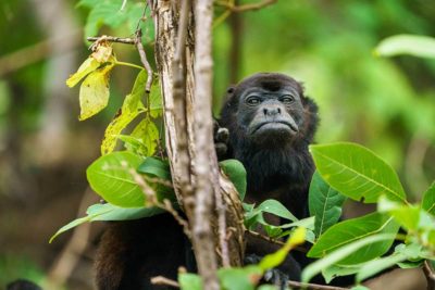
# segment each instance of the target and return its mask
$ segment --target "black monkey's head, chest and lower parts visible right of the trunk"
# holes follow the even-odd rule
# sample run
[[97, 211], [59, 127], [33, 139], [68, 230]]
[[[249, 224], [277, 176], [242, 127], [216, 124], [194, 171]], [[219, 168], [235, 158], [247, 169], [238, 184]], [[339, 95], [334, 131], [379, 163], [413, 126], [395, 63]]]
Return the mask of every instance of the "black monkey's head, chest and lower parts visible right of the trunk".
[[[229, 131], [227, 157], [247, 171], [248, 202], [281, 201], [298, 218], [308, 216], [308, 191], [314, 164], [308, 151], [318, 127], [318, 106], [302, 86], [283, 74], [260, 73], [227, 90], [220, 125]], [[275, 220], [275, 224], [279, 222]], [[247, 262], [278, 250], [277, 245], [247, 237]], [[309, 261], [303, 254], [287, 256], [270, 281], [300, 279]], [[287, 276], [287, 277], [286, 277]]]

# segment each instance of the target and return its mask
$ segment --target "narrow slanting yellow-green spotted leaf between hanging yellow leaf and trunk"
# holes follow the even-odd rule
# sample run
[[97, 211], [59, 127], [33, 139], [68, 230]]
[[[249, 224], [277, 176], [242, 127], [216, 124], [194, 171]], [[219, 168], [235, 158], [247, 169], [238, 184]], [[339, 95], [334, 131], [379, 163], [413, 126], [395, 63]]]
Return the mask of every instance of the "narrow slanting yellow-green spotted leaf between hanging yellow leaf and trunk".
[[145, 91], [145, 81], [147, 73], [142, 70], [137, 75], [135, 85], [133, 86], [132, 92], [125, 97], [124, 103], [117, 113], [117, 115], [109, 124], [104, 131], [104, 139], [101, 143], [101, 154], [108, 154], [112, 152], [116, 146], [116, 137], [121, 131], [134, 121], [141, 112], [145, 111], [144, 104], [140, 99]]

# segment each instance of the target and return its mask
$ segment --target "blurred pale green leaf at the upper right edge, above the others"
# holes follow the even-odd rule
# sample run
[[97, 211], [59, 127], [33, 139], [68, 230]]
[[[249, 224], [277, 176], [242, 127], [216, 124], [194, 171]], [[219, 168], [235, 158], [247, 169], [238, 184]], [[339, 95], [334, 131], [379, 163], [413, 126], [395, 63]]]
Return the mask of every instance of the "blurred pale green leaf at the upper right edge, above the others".
[[417, 35], [396, 35], [381, 41], [374, 50], [381, 56], [409, 54], [435, 59], [435, 38]]

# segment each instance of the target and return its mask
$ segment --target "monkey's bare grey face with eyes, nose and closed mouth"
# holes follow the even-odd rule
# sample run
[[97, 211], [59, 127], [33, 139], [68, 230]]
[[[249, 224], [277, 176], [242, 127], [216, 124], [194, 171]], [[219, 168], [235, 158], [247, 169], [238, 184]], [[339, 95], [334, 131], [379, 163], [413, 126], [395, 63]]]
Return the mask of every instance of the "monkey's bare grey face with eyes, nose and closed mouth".
[[303, 105], [297, 88], [276, 90], [250, 87], [239, 97], [237, 122], [246, 137], [258, 144], [291, 142], [302, 126]]

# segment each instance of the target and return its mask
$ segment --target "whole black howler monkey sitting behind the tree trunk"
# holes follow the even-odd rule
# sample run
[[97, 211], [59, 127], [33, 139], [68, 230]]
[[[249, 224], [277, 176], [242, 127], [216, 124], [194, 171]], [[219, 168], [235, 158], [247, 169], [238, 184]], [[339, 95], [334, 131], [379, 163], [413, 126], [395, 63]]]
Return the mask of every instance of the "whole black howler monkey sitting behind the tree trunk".
[[[316, 112], [301, 85], [283, 74], [256, 74], [227, 90], [219, 123], [229, 131], [225, 156], [239, 160], [247, 169], [248, 202], [277, 199], [297, 217], [308, 215], [314, 171], [308, 146], [318, 125]], [[248, 240], [248, 255], [274, 250], [264, 241]], [[178, 266], [195, 268], [191, 260], [190, 244], [169, 214], [113, 223], [97, 255], [98, 289], [164, 289], [151, 286], [150, 277], [176, 279]], [[299, 263], [291, 256], [283, 270], [299, 278]]]

